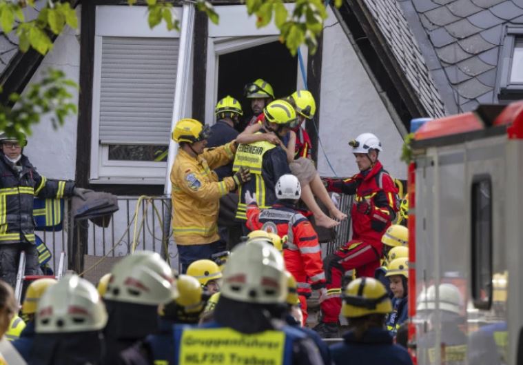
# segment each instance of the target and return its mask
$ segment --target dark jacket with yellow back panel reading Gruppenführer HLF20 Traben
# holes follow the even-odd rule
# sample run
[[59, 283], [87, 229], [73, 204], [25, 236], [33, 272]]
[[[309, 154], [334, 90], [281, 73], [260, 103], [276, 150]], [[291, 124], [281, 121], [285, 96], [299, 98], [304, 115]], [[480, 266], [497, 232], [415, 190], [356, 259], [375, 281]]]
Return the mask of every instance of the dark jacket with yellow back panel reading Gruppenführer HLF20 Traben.
[[[216, 322], [200, 327], [175, 325], [174, 346], [179, 365], [322, 364], [311, 339], [290, 326], [247, 334]], [[302, 351], [304, 347], [307, 351]]]

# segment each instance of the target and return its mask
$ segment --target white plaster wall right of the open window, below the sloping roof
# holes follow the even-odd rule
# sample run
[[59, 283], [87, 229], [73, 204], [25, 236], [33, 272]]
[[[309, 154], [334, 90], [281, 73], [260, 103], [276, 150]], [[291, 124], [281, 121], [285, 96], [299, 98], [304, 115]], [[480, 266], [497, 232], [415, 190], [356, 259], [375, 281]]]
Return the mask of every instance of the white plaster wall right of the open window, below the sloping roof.
[[[400, 161], [400, 133], [330, 9], [322, 57], [320, 139], [336, 174], [342, 177], [358, 172], [348, 142], [360, 133], [372, 132], [382, 142], [382, 164], [393, 177], [406, 179], [407, 165]], [[318, 172], [334, 175], [320, 146]]]

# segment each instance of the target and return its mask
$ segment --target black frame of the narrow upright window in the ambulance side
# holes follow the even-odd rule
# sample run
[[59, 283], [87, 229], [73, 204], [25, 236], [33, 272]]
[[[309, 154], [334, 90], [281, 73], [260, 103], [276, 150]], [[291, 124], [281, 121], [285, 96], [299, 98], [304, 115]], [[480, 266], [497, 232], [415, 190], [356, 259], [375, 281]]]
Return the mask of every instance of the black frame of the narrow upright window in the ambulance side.
[[[478, 212], [478, 203], [479, 201], [476, 199], [475, 194], [475, 188], [477, 186], [480, 186], [480, 184], [486, 182], [488, 184], [489, 188], [489, 221], [488, 221], [488, 248], [484, 250], [479, 250], [478, 252], [478, 246], [482, 244], [482, 242], [478, 241], [478, 237], [476, 237], [476, 228], [478, 227], [478, 220], [477, 218], [477, 212]], [[493, 299], [493, 285], [492, 285], [492, 279], [493, 279], [493, 189], [492, 189], [492, 177], [489, 174], [478, 174], [474, 175], [471, 182], [471, 206], [470, 206], [470, 212], [471, 212], [471, 298], [472, 302], [474, 304], [475, 308], [478, 309], [484, 309], [489, 310], [492, 306], [492, 299]], [[486, 257], [486, 261], [488, 261], [488, 273], [489, 273], [489, 281], [487, 283], [484, 283], [482, 285], [482, 277], [480, 273], [482, 272], [482, 269], [484, 268], [484, 260], [481, 255], [488, 255]], [[486, 298], [481, 297], [481, 290], [487, 289], [488, 290], [488, 296]]]

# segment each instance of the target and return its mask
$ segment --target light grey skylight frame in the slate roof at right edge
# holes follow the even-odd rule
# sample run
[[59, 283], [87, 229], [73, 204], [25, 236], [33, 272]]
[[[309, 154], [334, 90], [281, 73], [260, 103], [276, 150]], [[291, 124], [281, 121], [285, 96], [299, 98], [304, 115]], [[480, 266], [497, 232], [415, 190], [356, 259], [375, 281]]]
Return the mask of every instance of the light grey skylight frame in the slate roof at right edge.
[[510, 81], [516, 38], [523, 39], [523, 26], [506, 26], [499, 64], [498, 94], [501, 99], [510, 98], [513, 94], [523, 94], [523, 83], [511, 83]]

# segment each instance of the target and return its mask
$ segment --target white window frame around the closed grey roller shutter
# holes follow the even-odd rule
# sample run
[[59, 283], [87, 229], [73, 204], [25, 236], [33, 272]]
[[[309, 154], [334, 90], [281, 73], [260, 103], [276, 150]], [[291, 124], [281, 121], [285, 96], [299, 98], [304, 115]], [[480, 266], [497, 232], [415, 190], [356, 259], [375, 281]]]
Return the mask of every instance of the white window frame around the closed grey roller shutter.
[[[181, 8], [175, 7], [178, 19]], [[100, 143], [101, 51], [103, 37], [180, 38], [161, 24], [150, 29], [145, 6], [96, 6], [93, 55], [90, 184], [164, 185], [167, 161], [118, 161], [109, 159], [109, 144]], [[173, 95], [174, 104], [174, 95]], [[137, 142], [136, 144], [139, 144]], [[169, 141], [167, 141], [167, 145]], [[163, 144], [162, 146], [165, 146]]]

